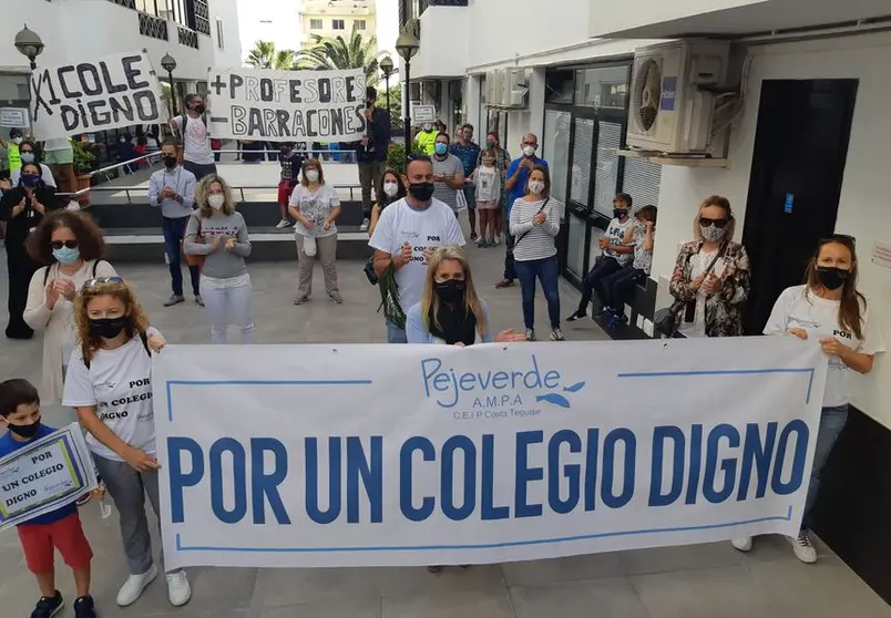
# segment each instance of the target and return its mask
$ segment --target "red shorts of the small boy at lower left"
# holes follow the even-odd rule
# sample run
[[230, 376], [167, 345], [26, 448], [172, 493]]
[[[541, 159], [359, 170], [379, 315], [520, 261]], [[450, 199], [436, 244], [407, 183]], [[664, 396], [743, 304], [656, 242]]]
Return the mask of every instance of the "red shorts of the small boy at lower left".
[[93, 559], [93, 550], [76, 513], [52, 524], [20, 524], [18, 529], [24, 562], [31, 573], [52, 573], [54, 549], [59, 549], [71, 568], [86, 568]]

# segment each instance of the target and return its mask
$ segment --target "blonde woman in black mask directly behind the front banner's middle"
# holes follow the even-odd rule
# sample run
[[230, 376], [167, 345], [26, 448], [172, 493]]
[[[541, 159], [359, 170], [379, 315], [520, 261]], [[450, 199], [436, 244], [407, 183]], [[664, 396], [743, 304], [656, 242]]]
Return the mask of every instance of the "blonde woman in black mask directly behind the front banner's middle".
[[461, 247], [445, 245], [430, 255], [421, 301], [406, 316], [409, 343], [472, 346], [525, 341], [513, 329], [493, 337], [485, 302], [477, 296], [470, 265]]

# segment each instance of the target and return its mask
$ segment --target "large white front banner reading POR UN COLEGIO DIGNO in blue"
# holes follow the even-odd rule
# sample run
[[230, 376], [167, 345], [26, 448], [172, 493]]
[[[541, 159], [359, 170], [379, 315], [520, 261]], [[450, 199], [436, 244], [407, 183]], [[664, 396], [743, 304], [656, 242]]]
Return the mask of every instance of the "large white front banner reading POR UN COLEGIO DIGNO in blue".
[[170, 346], [167, 567], [480, 564], [798, 533], [795, 338]]

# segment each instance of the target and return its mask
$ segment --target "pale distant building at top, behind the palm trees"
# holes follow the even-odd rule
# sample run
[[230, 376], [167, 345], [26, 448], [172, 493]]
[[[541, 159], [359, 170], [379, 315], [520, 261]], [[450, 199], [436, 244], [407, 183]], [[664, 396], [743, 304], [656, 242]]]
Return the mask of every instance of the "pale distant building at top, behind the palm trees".
[[306, 37], [304, 48], [313, 47], [313, 37], [349, 39], [356, 30], [363, 39], [378, 31], [375, 0], [305, 0], [300, 23]]

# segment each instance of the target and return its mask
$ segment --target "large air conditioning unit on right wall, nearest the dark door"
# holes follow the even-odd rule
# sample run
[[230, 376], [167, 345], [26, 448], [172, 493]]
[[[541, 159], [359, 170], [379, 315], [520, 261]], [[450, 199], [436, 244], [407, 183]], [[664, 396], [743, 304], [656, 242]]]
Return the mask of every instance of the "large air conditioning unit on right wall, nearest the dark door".
[[707, 151], [715, 89], [727, 80], [730, 44], [677, 41], [634, 52], [629, 148], [668, 154]]

